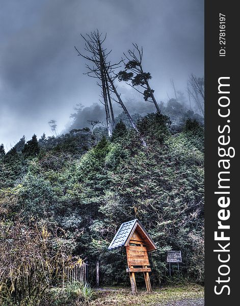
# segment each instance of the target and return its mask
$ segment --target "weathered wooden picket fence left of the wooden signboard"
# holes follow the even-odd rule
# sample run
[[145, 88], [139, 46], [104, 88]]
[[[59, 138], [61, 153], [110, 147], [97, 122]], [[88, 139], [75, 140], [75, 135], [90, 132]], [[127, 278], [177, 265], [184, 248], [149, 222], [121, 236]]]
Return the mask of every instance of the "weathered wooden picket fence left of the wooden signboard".
[[88, 262], [74, 264], [72, 267], [64, 268], [63, 283], [74, 281], [82, 284], [85, 284], [88, 281]]

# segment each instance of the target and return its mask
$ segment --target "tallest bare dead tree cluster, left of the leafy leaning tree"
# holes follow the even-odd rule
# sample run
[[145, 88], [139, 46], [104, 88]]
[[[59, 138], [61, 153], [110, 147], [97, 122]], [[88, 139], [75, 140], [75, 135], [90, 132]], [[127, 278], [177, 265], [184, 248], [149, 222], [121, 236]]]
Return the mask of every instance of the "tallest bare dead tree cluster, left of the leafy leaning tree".
[[[126, 114], [128, 120], [130, 121], [131, 126], [139, 134], [137, 126], [134, 120], [132, 120], [131, 115], [127, 111], [121, 99], [121, 94], [117, 91], [117, 87], [114, 83], [115, 79], [117, 78], [115, 69], [120, 67], [120, 63], [122, 61], [116, 64], [111, 64], [111, 61], [108, 60], [108, 56], [112, 52], [112, 50], [108, 52], [106, 48], [103, 48], [102, 46], [103, 42], [106, 39], [106, 35], [102, 38], [102, 33], [95, 31], [92, 32], [90, 35], [86, 34], [86, 37], [84, 37], [82, 34], [81, 36], [85, 40], [85, 50], [88, 52], [88, 55], [83, 55], [78, 51], [76, 47], [75, 49], [79, 56], [82, 56], [83, 58], [93, 63], [93, 66], [89, 66], [88, 64], [86, 64], [86, 67], [89, 70], [86, 74], [88, 74], [90, 77], [97, 78], [100, 81], [97, 82], [97, 85], [101, 88], [100, 96], [101, 98], [103, 98], [102, 104], [105, 107], [106, 123], [108, 127], [109, 136], [112, 135], [113, 127], [115, 125], [112, 101], [116, 101], [116, 103], [120, 105], [120, 107]], [[146, 145], [145, 141], [142, 140], [142, 142], [144, 145]]]

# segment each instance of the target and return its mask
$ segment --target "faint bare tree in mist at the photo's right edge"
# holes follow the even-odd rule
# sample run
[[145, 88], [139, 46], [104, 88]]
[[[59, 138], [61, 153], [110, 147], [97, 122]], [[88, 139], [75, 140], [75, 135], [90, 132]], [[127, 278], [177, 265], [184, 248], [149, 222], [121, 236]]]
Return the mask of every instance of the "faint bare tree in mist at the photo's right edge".
[[192, 73], [188, 80], [188, 92], [200, 113], [204, 116], [204, 78], [197, 78]]

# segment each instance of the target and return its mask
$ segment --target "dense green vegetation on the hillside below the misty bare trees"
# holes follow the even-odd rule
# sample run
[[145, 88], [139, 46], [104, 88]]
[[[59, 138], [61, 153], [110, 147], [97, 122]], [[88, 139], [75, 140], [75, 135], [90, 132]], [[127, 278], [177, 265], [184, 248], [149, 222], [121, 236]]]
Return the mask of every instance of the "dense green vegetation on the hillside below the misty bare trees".
[[159, 114], [137, 126], [141, 137], [120, 121], [111, 138], [86, 128], [22, 138], [7, 154], [1, 146], [0, 249], [9, 254], [1, 256], [1, 273], [8, 290], [11, 278], [20, 282], [18, 265], [26, 273], [26, 248], [31, 265], [37, 250], [43, 248], [43, 262], [61, 251], [87, 258], [90, 279], [99, 261], [101, 284], [128, 284], [125, 251], [107, 247], [119, 225], [135, 218], [157, 245], [150, 253], [153, 284], [166, 282], [170, 249], [182, 251], [180, 275], [203, 282], [203, 127], [189, 119], [171, 133], [169, 118]]

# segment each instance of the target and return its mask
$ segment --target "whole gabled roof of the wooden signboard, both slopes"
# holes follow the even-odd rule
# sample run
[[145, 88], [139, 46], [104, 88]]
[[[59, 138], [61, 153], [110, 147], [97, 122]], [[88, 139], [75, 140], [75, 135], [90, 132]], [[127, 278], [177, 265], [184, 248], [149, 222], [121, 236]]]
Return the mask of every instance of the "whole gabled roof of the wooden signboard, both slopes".
[[136, 229], [143, 238], [144, 242], [146, 243], [147, 250], [148, 251], [155, 250], [156, 249], [155, 243], [152, 241], [151, 237], [148, 235], [147, 231], [145, 230], [145, 228], [138, 219], [122, 223], [116, 235], [114, 236], [112, 242], [110, 243], [108, 249], [114, 249], [121, 246], [126, 246]]

